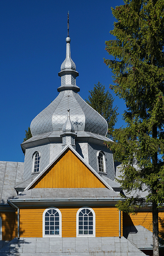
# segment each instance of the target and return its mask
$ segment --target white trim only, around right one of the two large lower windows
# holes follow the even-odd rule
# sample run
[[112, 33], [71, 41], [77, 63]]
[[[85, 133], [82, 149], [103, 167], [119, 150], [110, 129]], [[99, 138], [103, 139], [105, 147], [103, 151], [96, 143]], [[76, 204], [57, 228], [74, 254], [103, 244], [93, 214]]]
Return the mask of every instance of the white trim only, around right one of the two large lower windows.
[[[84, 209], [88, 209], [90, 210], [92, 213], [93, 213], [93, 234], [92, 235], [81, 235], [79, 234], [79, 213]], [[77, 214], [76, 214], [76, 237], [95, 237], [96, 236], [96, 231], [95, 231], [95, 226], [96, 226], [96, 217], [95, 217], [95, 212], [93, 211], [92, 208], [90, 207], [87, 207], [87, 206], [84, 206], [82, 208], [80, 208], [78, 211], [77, 211]]]

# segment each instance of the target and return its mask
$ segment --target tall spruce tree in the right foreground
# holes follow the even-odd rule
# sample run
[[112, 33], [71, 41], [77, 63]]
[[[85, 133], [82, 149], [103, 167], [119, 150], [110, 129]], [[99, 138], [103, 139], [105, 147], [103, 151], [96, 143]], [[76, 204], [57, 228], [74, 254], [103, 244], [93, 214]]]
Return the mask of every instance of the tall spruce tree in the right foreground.
[[115, 39], [106, 41], [112, 58], [104, 62], [113, 72], [112, 90], [125, 100], [127, 127], [113, 131], [116, 143], [109, 147], [122, 162], [123, 189], [148, 192], [146, 200], [129, 196], [118, 207], [129, 213], [151, 205], [153, 256], [158, 256], [158, 208], [164, 202], [164, 0], [124, 3], [112, 8]]

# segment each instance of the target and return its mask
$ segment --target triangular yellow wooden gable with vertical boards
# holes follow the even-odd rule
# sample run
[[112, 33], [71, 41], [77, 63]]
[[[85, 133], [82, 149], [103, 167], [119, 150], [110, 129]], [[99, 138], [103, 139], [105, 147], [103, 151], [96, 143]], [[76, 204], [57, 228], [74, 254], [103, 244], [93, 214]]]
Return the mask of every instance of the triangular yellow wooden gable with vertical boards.
[[71, 150], [67, 150], [32, 188], [106, 187]]

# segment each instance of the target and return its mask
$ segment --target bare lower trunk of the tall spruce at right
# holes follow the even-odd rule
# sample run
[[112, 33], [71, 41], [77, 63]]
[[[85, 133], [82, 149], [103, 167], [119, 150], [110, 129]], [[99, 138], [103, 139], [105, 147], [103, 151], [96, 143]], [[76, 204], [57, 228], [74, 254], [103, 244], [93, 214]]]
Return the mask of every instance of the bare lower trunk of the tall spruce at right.
[[159, 256], [159, 231], [158, 231], [158, 208], [157, 203], [153, 202], [153, 256]]

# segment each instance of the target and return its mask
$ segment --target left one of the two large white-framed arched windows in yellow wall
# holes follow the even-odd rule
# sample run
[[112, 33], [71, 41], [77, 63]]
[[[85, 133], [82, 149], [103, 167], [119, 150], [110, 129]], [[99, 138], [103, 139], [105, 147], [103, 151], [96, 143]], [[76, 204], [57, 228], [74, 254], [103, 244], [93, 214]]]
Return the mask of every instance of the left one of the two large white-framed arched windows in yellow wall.
[[55, 207], [43, 213], [43, 237], [61, 237], [61, 212]]

